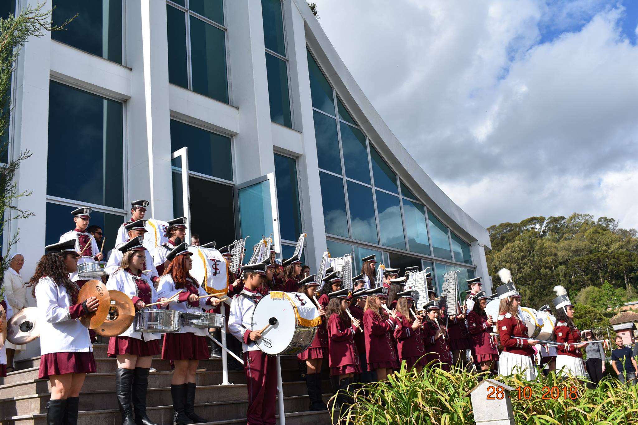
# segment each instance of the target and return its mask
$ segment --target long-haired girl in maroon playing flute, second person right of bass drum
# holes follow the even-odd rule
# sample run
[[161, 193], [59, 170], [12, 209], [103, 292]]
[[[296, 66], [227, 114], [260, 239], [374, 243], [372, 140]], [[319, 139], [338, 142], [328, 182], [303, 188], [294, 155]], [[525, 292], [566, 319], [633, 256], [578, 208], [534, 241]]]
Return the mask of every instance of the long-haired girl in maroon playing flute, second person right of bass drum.
[[[346, 308], [350, 307], [348, 289], [330, 292], [328, 295], [328, 355], [330, 375], [339, 377], [339, 389], [346, 391], [349, 384], [354, 383], [354, 374], [361, 372], [359, 352], [354, 336], [357, 334], [361, 322], [359, 319], [350, 321]], [[334, 408], [339, 408], [348, 400], [345, 394], [338, 394]]]

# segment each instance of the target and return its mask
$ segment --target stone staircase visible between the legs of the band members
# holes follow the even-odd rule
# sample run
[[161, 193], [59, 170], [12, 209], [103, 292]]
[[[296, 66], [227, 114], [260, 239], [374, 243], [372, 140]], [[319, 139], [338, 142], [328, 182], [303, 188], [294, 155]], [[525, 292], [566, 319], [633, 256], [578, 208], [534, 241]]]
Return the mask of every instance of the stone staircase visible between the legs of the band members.
[[[107, 357], [107, 344], [93, 346], [97, 372], [87, 375], [80, 394], [78, 424], [119, 425], [121, 418], [115, 398], [115, 363]], [[170, 397], [170, 362], [159, 356], [152, 366], [158, 371], [149, 375], [147, 413], [158, 424], [172, 424], [172, 400]], [[230, 358], [230, 356], [229, 356]], [[15, 362], [16, 371], [0, 378], [0, 422], [16, 425], [46, 425], [45, 405], [49, 400], [48, 380], [38, 379], [40, 357]], [[248, 393], [244, 371], [228, 371], [230, 385], [221, 385], [221, 359], [200, 361], [205, 371], [197, 372], [195, 408], [208, 424], [246, 424]], [[324, 368], [323, 400], [330, 398], [328, 369]], [[306, 382], [301, 380], [297, 357], [281, 356], [286, 425], [330, 424], [326, 412], [308, 411]], [[278, 415], [279, 417], [279, 415]], [[279, 421], [278, 421], [279, 423]]]

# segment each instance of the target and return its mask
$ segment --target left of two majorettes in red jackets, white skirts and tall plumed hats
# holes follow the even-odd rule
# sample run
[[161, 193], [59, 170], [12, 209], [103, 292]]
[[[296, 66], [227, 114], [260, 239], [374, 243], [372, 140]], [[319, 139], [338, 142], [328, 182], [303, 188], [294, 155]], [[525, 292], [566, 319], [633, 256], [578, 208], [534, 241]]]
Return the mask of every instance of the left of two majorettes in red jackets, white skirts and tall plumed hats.
[[536, 378], [536, 369], [532, 356], [533, 346], [536, 340], [526, 340], [527, 328], [519, 315], [521, 294], [516, 291], [514, 282], [496, 287], [496, 294], [500, 299], [498, 307], [498, 335], [500, 336], [503, 351], [498, 360], [498, 373], [510, 376], [514, 373], [522, 373], [527, 380]]

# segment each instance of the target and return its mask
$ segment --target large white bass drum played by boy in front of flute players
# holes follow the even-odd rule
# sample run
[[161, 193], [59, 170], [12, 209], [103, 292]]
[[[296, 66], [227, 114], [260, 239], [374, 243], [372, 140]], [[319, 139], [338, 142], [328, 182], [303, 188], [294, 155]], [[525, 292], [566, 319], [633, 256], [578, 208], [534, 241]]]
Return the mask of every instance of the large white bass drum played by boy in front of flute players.
[[277, 322], [256, 341], [258, 349], [270, 356], [298, 354], [308, 349], [321, 323], [315, 303], [300, 292], [272, 291], [264, 296], [253, 310], [251, 328], [263, 329], [272, 318]]

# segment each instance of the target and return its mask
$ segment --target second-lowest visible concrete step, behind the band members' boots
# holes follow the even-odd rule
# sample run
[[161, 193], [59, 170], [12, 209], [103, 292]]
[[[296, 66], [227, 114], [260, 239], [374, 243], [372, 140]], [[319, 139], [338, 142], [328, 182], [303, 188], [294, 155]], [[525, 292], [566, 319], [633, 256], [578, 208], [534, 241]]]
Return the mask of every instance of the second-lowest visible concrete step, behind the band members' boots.
[[[308, 394], [305, 381], [284, 382], [285, 396], [305, 396]], [[323, 381], [323, 393], [330, 393], [330, 381]], [[50, 398], [47, 390], [39, 394], [13, 396], [0, 399], [1, 416], [22, 416], [35, 413], [44, 413], [45, 405]], [[244, 401], [248, 393], [246, 384], [241, 385], [204, 385], [197, 388], [195, 403], [211, 403], [213, 401]], [[165, 406], [171, 405], [172, 398], [170, 387], [149, 388], [147, 405]], [[101, 391], [82, 391], [80, 395], [80, 410], [116, 409], [117, 399], [114, 394], [114, 385]]]

